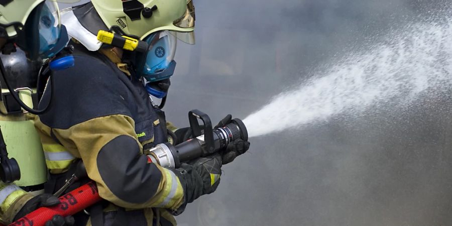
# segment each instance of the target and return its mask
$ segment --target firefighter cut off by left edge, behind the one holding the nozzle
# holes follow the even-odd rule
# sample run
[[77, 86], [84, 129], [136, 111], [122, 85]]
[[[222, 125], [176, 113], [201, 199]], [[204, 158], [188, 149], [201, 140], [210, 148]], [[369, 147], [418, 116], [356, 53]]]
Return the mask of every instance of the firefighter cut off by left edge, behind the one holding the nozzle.
[[[40, 62], [42, 62], [40, 59], [52, 58], [66, 46], [67, 33], [57, 16], [58, 12], [56, 2], [44, 0], [9, 0], [0, 3], [0, 15], [2, 15], [0, 17], [0, 50], [4, 54], [1, 58], [5, 61], [2, 64], [5, 66], [5, 70], [2, 71], [2, 86], [10, 80], [14, 88], [17, 85], [33, 88], [33, 85], [36, 85]], [[17, 47], [25, 53], [17, 50]], [[21, 77], [17, 77], [18, 75]], [[27, 95], [21, 95], [21, 99], [26, 101], [24, 98], [28, 100]], [[17, 166], [21, 169], [19, 171], [19, 167], [13, 166], [17, 163], [10, 165], [11, 162], [7, 163], [2, 159], [2, 167], [12, 169], [8, 172], [2, 170], [2, 182], [0, 182], [0, 223], [9, 224], [38, 207], [57, 205], [60, 201], [51, 194], [42, 194], [40, 190], [40, 186], [46, 180], [46, 168], [40, 161], [44, 163], [44, 157], [41, 158], [42, 154], [37, 153], [38, 151], [42, 153], [42, 149], [40, 143], [35, 142], [36, 131], [30, 122], [33, 116], [20, 106], [17, 109], [14, 104], [7, 104], [6, 99], [6, 95], [3, 95], [0, 124], [2, 124], [2, 132], [8, 143], [10, 154], [16, 156]], [[12, 99], [9, 99], [8, 103], [11, 101]], [[17, 130], [20, 130], [19, 133], [27, 134], [25, 137], [27, 141], [24, 141], [24, 138], [12, 138], [17, 136]], [[19, 178], [21, 179], [17, 184], [11, 183]], [[22, 188], [33, 192], [27, 192]], [[71, 216], [56, 215], [46, 225], [72, 225], [73, 223], [74, 219]]]

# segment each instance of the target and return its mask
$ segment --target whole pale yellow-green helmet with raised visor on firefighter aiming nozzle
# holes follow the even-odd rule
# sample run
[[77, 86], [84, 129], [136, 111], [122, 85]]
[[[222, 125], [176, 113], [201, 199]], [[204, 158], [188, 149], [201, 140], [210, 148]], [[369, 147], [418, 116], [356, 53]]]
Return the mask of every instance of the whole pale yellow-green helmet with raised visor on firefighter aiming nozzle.
[[91, 0], [103, 23], [144, 39], [157, 31], [174, 31], [193, 43], [195, 12], [192, 0]]

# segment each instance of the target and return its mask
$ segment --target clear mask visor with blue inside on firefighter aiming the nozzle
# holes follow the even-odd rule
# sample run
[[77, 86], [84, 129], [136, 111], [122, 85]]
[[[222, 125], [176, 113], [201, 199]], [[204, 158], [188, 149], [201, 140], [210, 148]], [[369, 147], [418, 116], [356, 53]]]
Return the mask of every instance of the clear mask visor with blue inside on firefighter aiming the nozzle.
[[148, 50], [144, 54], [141, 75], [147, 81], [158, 81], [172, 75], [163, 73], [171, 68], [176, 54], [176, 37], [168, 31], [159, 31], [149, 35], [144, 40]]

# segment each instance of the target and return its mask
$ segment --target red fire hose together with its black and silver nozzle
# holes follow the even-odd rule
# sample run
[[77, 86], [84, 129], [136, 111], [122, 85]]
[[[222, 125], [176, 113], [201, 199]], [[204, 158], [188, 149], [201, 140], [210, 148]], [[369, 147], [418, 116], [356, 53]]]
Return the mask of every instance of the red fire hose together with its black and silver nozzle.
[[[149, 150], [149, 162], [167, 168], [178, 168], [180, 163], [199, 157], [208, 156], [224, 150], [229, 143], [242, 139], [248, 140], [248, 132], [239, 119], [221, 128], [212, 129], [210, 119], [199, 110], [192, 110], [188, 114], [190, 128], [194, 139], [182, 142], [176, 146], [169, 143], [157, 145]], [[198, 119], [204, 125], [199, 125]], [[202, 130], [204, 134], [201, 135]], [[9, 224], [9, 226], [44, 226], [54, 215], [73, 215], [102, 200], [94, 181], [78, 187], [59, 197], [60, 204], [52, 207], [41, 207]], [[1, 225], [0, 225], [1, 226]]]

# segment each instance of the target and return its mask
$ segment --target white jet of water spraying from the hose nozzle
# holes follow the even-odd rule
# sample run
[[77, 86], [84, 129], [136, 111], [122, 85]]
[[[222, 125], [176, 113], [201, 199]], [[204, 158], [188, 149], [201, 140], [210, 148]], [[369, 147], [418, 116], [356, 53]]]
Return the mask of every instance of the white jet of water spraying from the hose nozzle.
[[354, 53], [244, 120], [250, 137], [360, 114], [369, 106], [409, 103], [452, 84], [452, 19], [413, 24], [388, 43]]

